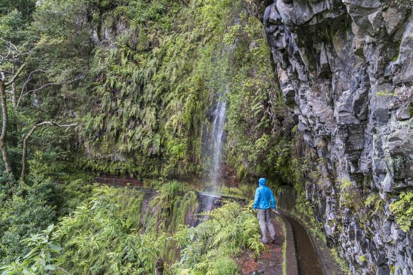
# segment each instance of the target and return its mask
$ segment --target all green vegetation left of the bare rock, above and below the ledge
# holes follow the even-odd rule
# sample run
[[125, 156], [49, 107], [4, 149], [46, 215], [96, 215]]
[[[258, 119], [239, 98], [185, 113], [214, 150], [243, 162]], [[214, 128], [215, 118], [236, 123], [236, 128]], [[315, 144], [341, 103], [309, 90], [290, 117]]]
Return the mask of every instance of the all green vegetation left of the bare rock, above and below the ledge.
[[[207, 174], [210, 113], [223, 95], [223, 164], [243, 184], [220, 190], [245, 198], [257, 175], [273, 187], [301, 180], [291, 177], [300, 140], [276, 85], [263, 8], [250, 0], [0, 4], [8, 156], [0, 272], [152, 274], [161, 256], [166, 274], [236, 274], [242, 250], [259, 256], [248, 206], [227, 201], [185, 227], [197, 196], [168, 178]], [[90, 184], [102, 174], [150, 178], [159, 194], [147, 203], [128, 188]]]

